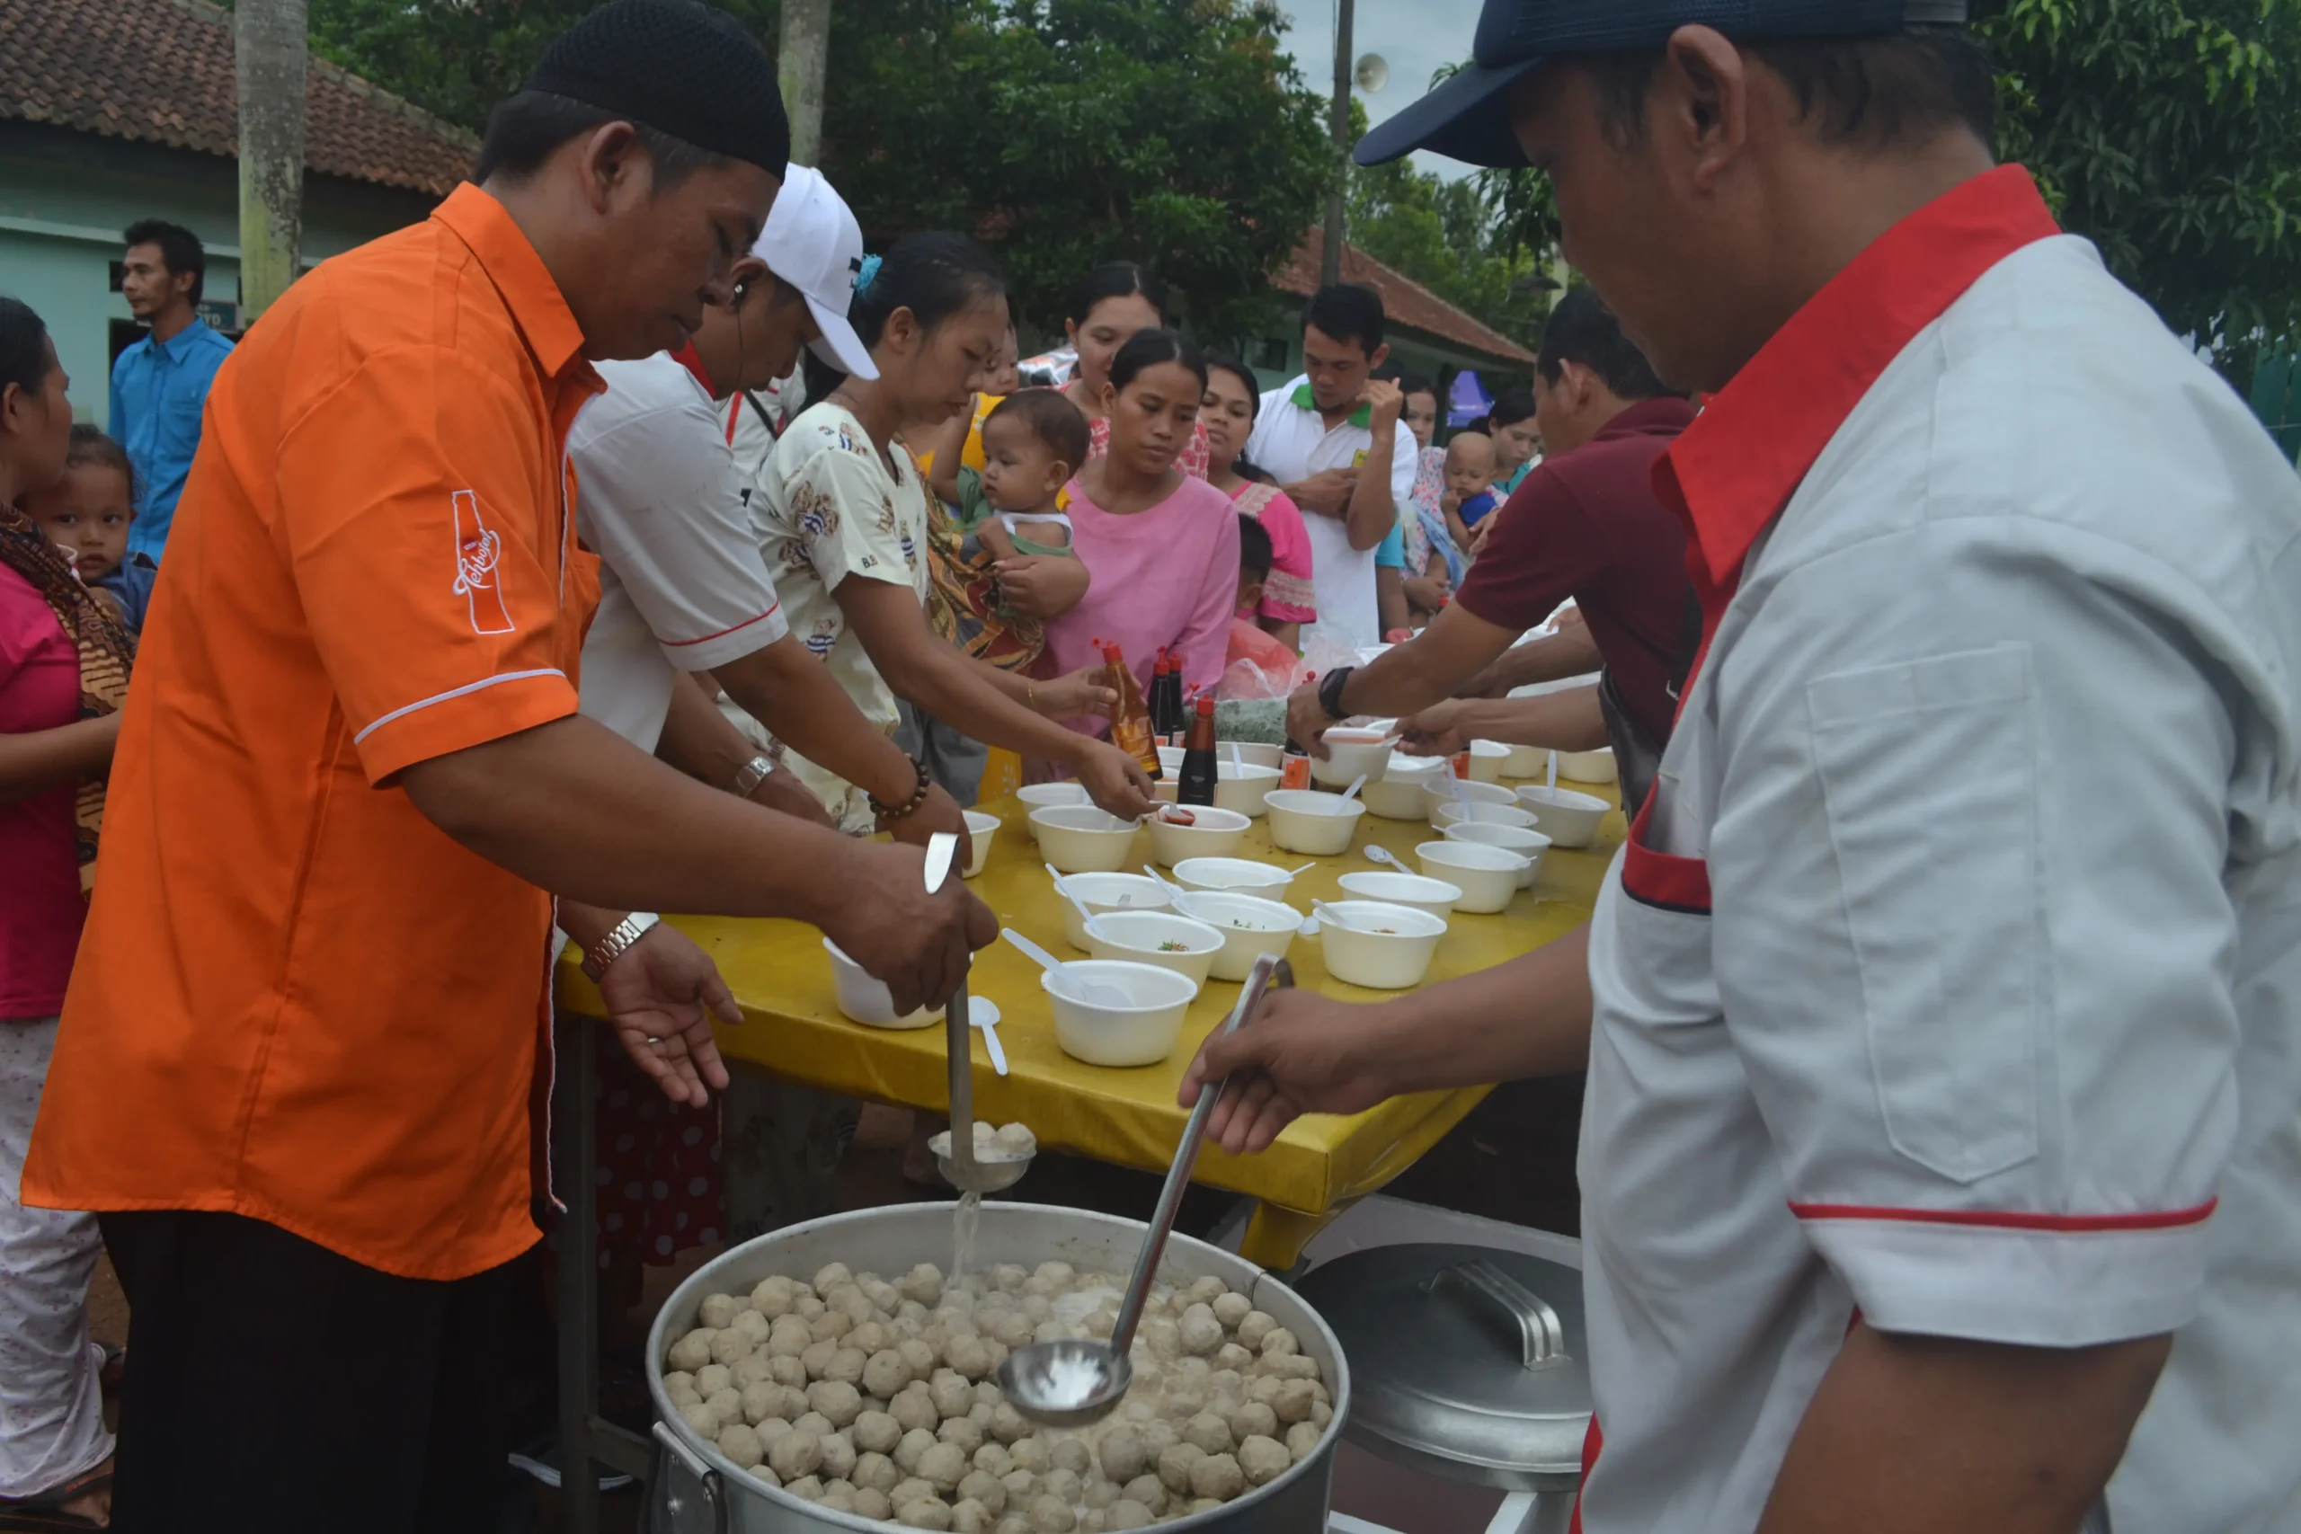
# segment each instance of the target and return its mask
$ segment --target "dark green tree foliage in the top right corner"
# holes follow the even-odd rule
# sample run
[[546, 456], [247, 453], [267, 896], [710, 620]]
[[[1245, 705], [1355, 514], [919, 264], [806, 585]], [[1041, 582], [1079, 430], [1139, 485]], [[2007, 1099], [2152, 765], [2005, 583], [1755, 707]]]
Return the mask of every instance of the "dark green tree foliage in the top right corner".
[[2000, 152], [2227, 373], [2301, 333], [2301, 0], [1986, 0]]

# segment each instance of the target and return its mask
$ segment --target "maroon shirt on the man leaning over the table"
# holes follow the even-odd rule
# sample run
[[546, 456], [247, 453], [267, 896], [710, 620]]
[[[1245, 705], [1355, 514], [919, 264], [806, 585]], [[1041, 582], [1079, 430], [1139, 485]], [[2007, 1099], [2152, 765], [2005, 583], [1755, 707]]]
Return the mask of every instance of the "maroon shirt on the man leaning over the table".
[[1694, 423], [1684, 400], [1641, 400], [1590, 442], [1542, 460], [1500, 511], [1454, 598], [1496, 628], [1532, 628], [1574, 598], [1622, 704], [1671, 738], [1671, 667], [1684, 630], [1687, 529], [1654, 497], [1654, 460]]

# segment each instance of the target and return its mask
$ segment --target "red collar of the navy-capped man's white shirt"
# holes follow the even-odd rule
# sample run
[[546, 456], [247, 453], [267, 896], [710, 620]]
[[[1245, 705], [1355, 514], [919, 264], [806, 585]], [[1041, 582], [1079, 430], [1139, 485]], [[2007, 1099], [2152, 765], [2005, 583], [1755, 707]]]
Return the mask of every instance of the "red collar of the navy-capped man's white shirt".
[[1735, 584], [1749, 545], [1903, 347], [1990, 267], [2059, 232], [2029, 172], [2000, 166], [1896, 223], [1806, 299], [1654, 462], [1654, 492], [1687, 520], [1710, 582]]

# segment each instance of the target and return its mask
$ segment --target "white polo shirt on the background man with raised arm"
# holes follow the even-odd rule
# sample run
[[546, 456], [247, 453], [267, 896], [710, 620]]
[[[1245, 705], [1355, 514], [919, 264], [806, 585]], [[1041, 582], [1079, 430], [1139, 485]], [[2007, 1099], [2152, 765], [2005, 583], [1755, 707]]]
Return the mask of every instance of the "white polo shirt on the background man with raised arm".
[[[1351, 416], [1335, 430], [1309, 396], [1309, 375], [1284, 389], [1263, 396], [1261, 414], [1254, 416], [1254, 435], [1247, 437], [1247, 458], [1282, 485], [1293, 485], [1325, 469], [1362, 467], [1374, 446], [1374, 430], [1362, 425], [1364, 412]], [[1415, 469], [1422, 448], [1404, 425], [1390, 444], [1390, 497], [1406, 511], [1415, 497]], [[1302, 511], [1302, 527], [1309, 529], [1309, 580], [1318, 593], [1318, 621], [1302, 630], [1305, 649], [1312, 635], [1362, 651], [1381, 644], [1383, 619], [1374, 603], [1374, 550], [1353, 550], [1351, 529], [1341, 517]]]

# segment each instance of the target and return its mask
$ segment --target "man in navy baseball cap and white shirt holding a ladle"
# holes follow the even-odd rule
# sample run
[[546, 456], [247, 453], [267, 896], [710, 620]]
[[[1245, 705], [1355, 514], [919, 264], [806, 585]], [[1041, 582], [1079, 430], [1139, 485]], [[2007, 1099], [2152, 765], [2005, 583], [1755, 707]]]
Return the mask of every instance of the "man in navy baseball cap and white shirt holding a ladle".
[[2301, 1527], [2301, 481], [1993, 163], [1963, 9], [1489, 0], [1358, 149], [1544, 170], [1710, 391], [1700, 649], [1583, 934], [1185, 1097], [1588, 1069], [1590, 1534]]

